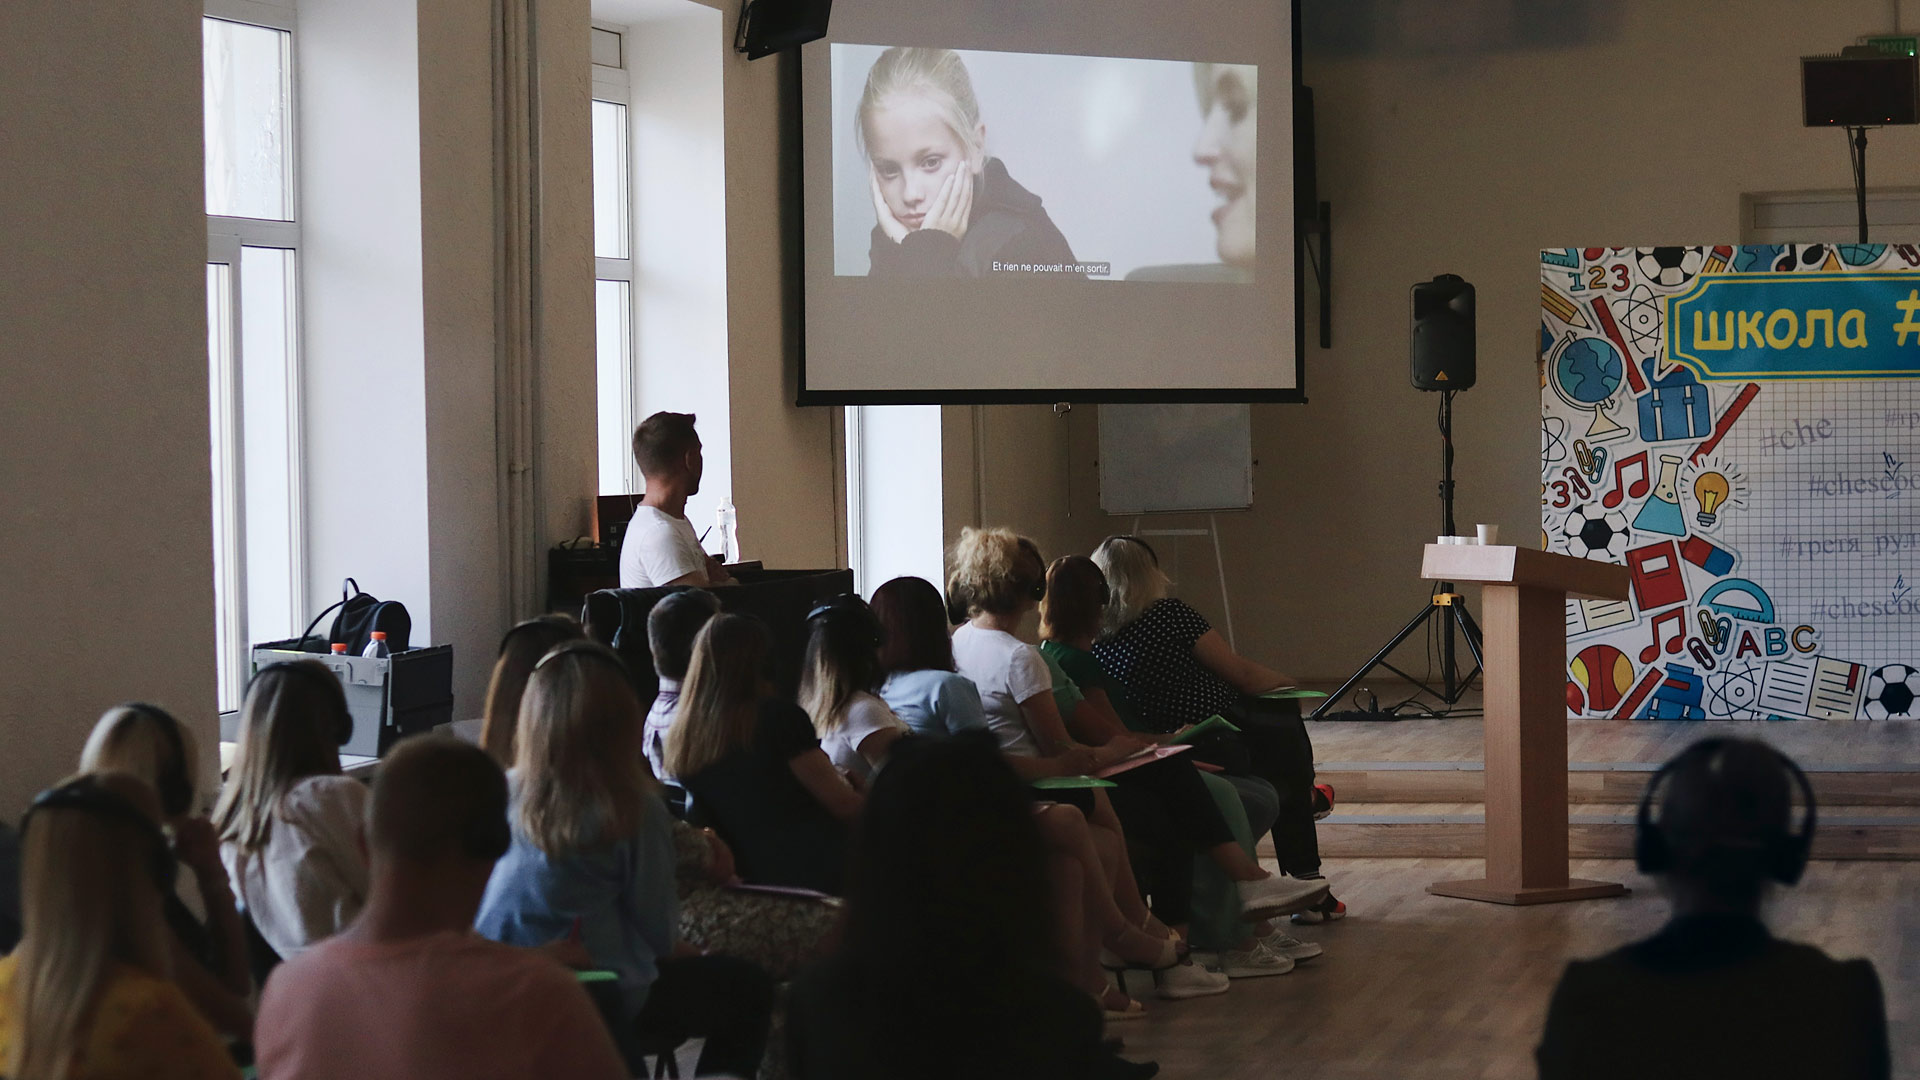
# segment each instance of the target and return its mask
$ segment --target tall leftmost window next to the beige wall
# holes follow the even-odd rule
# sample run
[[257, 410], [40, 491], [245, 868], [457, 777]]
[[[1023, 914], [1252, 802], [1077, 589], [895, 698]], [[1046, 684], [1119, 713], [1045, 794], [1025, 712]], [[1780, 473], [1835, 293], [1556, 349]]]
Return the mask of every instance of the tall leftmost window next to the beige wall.
[[213, 598], [228, 711], [240, 707], [252, 644], [298, 634], [305, 607], [294, 12], [219, 0], [202, 29]]

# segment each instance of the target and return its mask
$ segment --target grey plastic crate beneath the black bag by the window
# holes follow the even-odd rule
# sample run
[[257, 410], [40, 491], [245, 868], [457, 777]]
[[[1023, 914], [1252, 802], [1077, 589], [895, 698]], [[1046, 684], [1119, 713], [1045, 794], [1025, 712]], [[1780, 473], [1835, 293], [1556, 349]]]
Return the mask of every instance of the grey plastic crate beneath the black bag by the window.
[[[253, 646], [253, 671], [273, 663], [311, 659], [332, 669], [348, 694], [353, 738], [340, 753], [380, 757], [397, 740], [453, 719], [453, 646], [426, 646], [388, 659], [307, 653], [298, 640]], [[221, 738], [236, 738], [238, 715], [221, 717]]]

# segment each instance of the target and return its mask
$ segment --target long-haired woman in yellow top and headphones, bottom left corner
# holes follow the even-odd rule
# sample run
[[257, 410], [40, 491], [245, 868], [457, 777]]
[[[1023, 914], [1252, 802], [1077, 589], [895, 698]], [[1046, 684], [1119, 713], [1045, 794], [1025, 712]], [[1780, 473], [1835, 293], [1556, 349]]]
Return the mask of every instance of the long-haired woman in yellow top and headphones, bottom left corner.
[[21, 822], [25, 936], [0, 957], [0, 1074], [228, 1080], [240, 1070], [173, 984], [161, 897], [173, 851], [152, 788], [100, 773], [40, 792]]

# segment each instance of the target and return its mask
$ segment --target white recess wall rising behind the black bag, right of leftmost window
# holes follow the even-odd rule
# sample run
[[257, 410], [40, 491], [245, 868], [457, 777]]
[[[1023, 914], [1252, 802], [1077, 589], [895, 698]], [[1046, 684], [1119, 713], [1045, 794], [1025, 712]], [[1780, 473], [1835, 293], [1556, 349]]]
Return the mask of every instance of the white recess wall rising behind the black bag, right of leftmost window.
[[300, 133], [307, 611], [353, 577], [434, 642], [413, 0], [307, 0]]

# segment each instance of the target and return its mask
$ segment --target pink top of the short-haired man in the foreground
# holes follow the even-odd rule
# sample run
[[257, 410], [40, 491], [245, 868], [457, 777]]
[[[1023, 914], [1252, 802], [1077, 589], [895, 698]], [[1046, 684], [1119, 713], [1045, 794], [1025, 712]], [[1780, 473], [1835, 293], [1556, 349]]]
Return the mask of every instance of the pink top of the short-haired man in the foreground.
[[275, 1080], [628, 1076], [570, 970], [472, 934], [321, 942], [267, 980], [253, 1032]]

